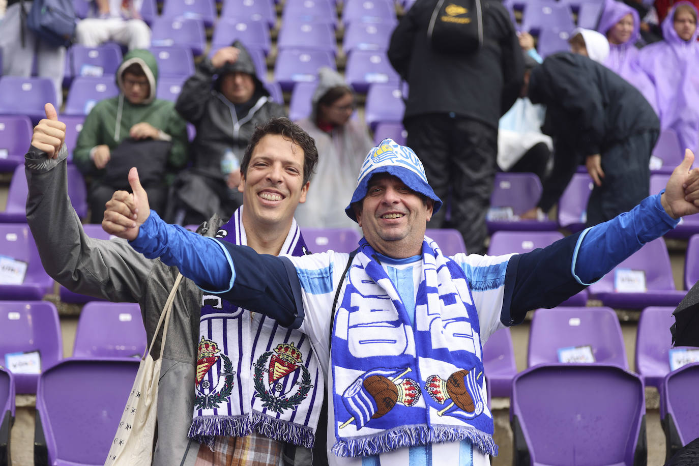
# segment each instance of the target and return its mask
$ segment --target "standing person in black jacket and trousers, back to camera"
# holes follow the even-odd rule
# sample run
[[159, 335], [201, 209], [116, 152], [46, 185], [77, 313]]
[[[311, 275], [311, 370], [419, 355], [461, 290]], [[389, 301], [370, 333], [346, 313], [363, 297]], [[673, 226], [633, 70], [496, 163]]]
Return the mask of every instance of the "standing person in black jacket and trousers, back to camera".
[[[403, 125], [470, 253], [483, 254], [498, 153], [498, 119], [519, 96], [524, 61], [510, 15], [482, 0], [483, 41], [472, 52], [436, 50], [428, 27], [438, 0], [418, 0], [391, 36], [391, 65], [410, 85]], [[445, 211], [444, 209], [443, 211]], [[444, 213], [433, 215], [440, 228]]]

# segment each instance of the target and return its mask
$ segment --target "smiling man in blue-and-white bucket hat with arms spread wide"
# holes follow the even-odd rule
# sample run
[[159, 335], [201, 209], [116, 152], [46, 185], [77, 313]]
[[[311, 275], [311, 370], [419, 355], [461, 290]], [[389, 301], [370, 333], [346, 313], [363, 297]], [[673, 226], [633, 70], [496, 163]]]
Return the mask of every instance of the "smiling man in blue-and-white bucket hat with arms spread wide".
[[527, 254], [444, 256], [424, 235], [442, 203], [415, 152], [390, 139], [369, 152], [345, 210], [364, 233], [356, 255], [274, 257], [201, 238], [149, 214], [137, 184], [104, 225], [308, 335], [327, 374], [331, 465], [482, 466], [498, 451], [482, 345], [699, 212], [699, 190], [682, 187], [692, 161], [688, 153], [663, 194]]

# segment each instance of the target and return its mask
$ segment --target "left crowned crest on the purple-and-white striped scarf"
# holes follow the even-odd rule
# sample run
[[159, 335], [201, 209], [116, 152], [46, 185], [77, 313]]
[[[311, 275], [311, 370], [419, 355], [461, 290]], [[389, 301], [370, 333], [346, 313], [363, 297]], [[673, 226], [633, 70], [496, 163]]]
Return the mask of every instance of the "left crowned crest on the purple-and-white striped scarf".
[[[219, 363], [218, 377], [215, 375], [206, 377], [211, 368]], [[196, 409], [218, 408], [221, 402], [228, 399], [233, 393], [236, 372], [233, 371], [231, 359], [221, 353], [218, 344], [212, 340], [201, 337], [199, 341], [199, 357], [196, 361]], [[222, 379], [223, 378], [223, 384]], [[221, 386], [222, 385], [222, 386]], [[221, 386], [220, 390], [217, 390]]]

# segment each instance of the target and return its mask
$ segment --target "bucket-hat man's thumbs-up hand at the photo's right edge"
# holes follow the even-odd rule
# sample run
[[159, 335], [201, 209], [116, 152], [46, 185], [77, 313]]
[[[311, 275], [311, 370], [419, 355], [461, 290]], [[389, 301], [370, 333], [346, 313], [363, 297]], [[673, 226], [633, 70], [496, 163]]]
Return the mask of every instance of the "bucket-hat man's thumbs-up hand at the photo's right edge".
[[699, 180], [699, 173], [697, 170], [689, 171], [692, 163], [694, 154], [687, 149], [684, 151], [684, 160], [672, 171], [665, 192], [661, 196], [665, 212], [673, 219], [699, 212], [699, 183], [696, 181]]

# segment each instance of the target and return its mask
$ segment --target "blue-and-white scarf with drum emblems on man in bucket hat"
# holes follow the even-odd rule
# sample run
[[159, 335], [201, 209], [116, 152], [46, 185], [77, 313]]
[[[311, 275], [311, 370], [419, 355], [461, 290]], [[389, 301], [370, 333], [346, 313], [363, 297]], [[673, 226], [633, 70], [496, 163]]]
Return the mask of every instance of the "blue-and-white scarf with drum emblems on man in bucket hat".
[[338, 456], [468, 440], [496, 455], [478, 315], [463, 270], [425, 238], [415, 326], [362, 239], [333, 329]]

